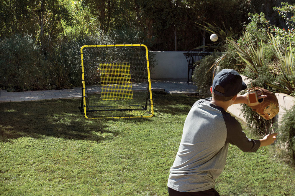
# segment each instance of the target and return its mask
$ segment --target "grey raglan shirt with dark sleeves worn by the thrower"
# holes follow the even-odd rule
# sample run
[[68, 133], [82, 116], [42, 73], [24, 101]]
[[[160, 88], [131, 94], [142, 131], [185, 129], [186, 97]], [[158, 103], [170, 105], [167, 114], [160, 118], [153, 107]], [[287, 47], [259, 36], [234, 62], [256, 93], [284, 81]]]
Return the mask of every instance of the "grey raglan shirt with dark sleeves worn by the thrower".
[[198, 100], [186, 117], [168, 179], [168, 187], [174, 190], [196, 192], [213, 188], [224, 169], [229, 144], [244, 152], [255, 152], [260, 147], [259, 140], [247, 138], [240, 123], [211, 100]]

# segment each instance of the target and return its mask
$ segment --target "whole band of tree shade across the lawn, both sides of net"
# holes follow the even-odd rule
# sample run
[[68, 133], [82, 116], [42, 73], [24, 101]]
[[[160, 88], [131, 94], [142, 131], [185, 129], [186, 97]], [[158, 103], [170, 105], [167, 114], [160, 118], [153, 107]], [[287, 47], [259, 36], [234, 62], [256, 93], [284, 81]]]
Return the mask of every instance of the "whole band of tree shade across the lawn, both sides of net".
[[[191, 106], [200, 98], [194, 96], [171, 96], [165, 92], [153, 93], [155, 114], [187, 115]], [[151, 122], [153, 118], [123, 118], [110, 120], [88, 120], [78, 109], [80, 99], [47, 100], [32, 102], [1, 103], [0, 140], [9, 141], [19, 137], [42, 138], [52, 136], [74, 140], [101, 141], [120, 134], [112, 128], [121, 120], [129, 122]]]

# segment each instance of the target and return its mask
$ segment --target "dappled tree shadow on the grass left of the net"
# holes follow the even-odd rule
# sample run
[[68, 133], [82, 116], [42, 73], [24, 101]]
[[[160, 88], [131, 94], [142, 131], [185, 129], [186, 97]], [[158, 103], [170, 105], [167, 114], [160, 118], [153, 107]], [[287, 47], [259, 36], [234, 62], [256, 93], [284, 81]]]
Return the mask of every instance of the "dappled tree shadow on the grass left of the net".
[[100, 141], [114, 137], [103, 120], [87, 120], [80, 113], [79, 99], [0, 104], [0, 140], [52, 136]]

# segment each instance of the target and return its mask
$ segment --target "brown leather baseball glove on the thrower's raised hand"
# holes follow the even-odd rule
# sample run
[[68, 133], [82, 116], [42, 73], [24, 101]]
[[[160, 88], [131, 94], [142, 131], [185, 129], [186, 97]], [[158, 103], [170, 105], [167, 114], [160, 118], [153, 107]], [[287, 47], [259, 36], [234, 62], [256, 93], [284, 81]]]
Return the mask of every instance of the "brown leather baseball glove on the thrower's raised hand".
[[[258, 99], [257, 93], [261, 92], [262, 95], [267, 95], [266, 98]], [[253, 111], [257, 112], [261, 117], [266, 120], [272, 119], [279, 112], [278, 99], [275, 94], [264, 88], [255, 87], [247, 89], [248, 106]]]

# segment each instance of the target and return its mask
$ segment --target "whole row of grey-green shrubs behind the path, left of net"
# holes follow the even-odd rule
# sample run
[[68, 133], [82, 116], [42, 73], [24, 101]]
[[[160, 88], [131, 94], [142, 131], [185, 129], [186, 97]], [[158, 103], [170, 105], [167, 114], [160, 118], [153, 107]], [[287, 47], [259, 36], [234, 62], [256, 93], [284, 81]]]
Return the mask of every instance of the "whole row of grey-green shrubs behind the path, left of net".
[[[105, 43], [115, 41], [102, 33], [92, 36], [68, 34], [54, 47], [47, 47], [41, 55], [40, 46], [32, 36], [5, 38], [0, 42], [0, 88], [31, 91], [82, 86], [81, 46]], [[153, 54], [149, 56], [149, 61], [153, 68]]]

